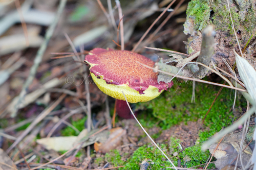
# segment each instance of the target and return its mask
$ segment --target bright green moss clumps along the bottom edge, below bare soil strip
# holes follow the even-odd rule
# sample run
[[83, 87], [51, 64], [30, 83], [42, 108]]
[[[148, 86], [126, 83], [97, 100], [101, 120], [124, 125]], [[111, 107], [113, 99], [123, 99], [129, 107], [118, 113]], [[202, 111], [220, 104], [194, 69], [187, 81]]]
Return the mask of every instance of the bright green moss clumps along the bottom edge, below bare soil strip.
[[[183, 167], [192, 167], [207, 161], [210, 153], [202, 152], [199, 145], [181, 151], [179, 143], [179, 139], [170, 138], [168, 144], [160, 145], [160, 148], [176, 166], [178, 159], [181, 161]], [[177, 156], [173, 156], [175, 152], [178, 153]], [[186, 161], [185, 159], [188, 158], [191, 158], [191, 160]], [[139, 169], [141, 162], [145, 159], [150, 163], [150, 169], [165, 169], [167, 166], [172, 166], [155, 146], [144, 145], [133, 153], [122, 169]], [[208, 168], [212, 168], [213, 166], [210, 165]]]

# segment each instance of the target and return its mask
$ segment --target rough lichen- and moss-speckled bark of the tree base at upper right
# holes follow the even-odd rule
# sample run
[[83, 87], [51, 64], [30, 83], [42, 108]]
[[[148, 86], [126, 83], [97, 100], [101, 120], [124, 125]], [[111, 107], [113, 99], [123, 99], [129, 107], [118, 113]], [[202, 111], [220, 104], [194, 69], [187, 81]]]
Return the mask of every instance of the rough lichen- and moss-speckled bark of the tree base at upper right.
[[[252, 36], [246, 50], [247, 61], [256, 68], [256, 47], [252, 45], [256, 39], [256, 4], [254, 0], [229, 0], [230, 12], [232, 15], [234, 28], [238, 34], [239, 43], [242, 48]], [[228, 10], [226, 0], [192, 0], [187, 7], [187, 18], [184, 23], [184, 33], [190, 34], [186, 42], [187, 53], [192, 55], [200, 51], [202, 35], [201, 31], [209, 24], [214, 24], [216, 30], [215, 53], [212, 61], [220, 68], [228, 71], [223, 63], [225, 58], [232, 66], [235, 57], [232, 50], [237, 52], [238, 44]]]

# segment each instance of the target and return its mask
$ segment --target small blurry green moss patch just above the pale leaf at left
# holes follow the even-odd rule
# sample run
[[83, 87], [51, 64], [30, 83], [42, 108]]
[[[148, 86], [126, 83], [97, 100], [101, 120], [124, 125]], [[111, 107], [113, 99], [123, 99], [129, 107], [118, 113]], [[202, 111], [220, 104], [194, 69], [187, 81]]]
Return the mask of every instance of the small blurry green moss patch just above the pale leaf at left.
[[[87, 117], [83, 117], [82, 119], [79, 119], [77, 121], [71, 120], [71, 124], [78, 129], [79, 131], [82, 131], [84, 129], [84, 123], [86, 122]], [[71, 127], [67, 127], [63, 130], [61, 130], [62, 136], [77, 136], [78, 133], [72, 129]]]

